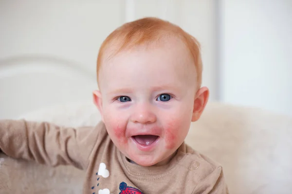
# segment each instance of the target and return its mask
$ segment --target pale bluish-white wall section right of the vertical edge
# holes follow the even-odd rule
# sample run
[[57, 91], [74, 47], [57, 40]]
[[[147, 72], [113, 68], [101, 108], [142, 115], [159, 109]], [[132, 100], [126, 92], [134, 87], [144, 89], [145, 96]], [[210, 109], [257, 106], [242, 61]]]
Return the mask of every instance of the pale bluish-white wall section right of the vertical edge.
[[221, 0], [223, 102], [292, 115], [292, 0]]

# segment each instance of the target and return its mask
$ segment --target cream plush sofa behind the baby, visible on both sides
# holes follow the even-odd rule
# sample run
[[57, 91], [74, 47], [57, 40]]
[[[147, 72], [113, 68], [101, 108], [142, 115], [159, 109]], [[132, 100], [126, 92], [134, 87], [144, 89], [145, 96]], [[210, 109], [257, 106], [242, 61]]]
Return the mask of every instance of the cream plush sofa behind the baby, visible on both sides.
[[[94, 125], [91, 102], [58, 105], [20, 118]], [[222, 164], [231, 194], [292, 194], [292, 118], [252, 107], [208, 103], [186, 142]], [[81, 194], [84, 172], [0, 155], [0, 194]]]

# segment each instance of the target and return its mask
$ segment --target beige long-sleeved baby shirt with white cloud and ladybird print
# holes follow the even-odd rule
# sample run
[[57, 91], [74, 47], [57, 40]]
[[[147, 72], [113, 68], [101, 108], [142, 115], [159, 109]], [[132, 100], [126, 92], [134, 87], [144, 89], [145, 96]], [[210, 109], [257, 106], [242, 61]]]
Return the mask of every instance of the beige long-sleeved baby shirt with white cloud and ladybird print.
[[185, 143], [168, 164], [139, 166], [116, 148], [102, 122], [75, 129], [4, 120], [0, 122], [0, 149], [16, 159], [86, 170], [83, 194], [229, 193], [222, 167]]

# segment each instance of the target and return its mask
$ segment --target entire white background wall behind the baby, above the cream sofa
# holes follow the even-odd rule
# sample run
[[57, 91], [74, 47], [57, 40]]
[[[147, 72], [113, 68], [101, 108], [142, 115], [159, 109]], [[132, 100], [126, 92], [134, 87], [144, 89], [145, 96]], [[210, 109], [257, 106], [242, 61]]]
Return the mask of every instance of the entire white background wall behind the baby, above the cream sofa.
[[[292, 115], [292, 0], [2, 0], [0, 117], [91, 99], [100, 44], [119, 25], [146, 16], [174, 22], [201, 42], [211, 101]], [[63, 71], [48, 75], [54, 65]], [[65, 74], [83, 81], [70, 86]], [[32, 100], [36, 93], [41, 100]]]

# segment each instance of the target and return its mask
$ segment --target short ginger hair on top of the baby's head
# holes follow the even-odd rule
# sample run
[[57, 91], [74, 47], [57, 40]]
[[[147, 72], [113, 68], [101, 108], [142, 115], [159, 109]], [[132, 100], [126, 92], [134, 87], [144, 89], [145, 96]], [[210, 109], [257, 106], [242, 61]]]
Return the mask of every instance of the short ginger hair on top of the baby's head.
[[[97, 57], [97, 77], [104, 60], [109, 59], [120, 51], [131, 49], [138, 45], [148, 45], [164, 37], [180, 38], [194, 60], [197, 81], [201, 87], [202, 61], [200, 43], [179, 26], [159, 18], [142, 18], [125, 23], [114, 30], [102, 43]], [[107, 53], [107, 55], [106, 55]]]

